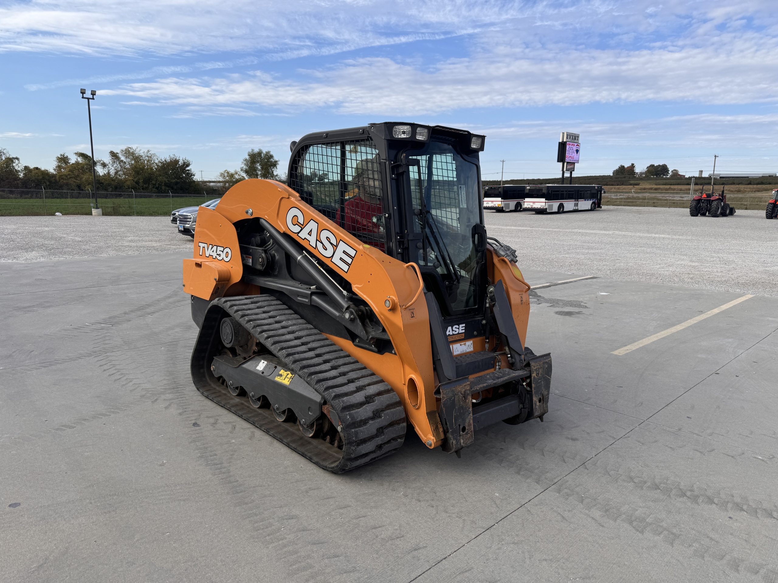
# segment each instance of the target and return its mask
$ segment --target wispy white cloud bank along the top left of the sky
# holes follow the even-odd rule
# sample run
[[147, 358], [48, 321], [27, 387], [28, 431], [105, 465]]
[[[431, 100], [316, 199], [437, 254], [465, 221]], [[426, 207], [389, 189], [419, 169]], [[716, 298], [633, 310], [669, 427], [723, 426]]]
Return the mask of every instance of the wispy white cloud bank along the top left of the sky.
[[457, 0], [11, 0], [0, 50], [73, 54], [260, 51], [332, 54], [456, 35], [516, 16], [522, 2]]

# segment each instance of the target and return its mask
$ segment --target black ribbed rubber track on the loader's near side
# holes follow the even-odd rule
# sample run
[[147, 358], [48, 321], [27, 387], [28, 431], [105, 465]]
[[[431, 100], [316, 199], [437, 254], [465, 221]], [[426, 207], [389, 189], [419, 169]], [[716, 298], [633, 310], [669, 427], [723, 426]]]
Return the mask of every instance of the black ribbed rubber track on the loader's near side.
[[[232, 396], [216, 381], [210, 365], [224, 312], [324, 397], [342, 423], [342, 450], [305, 437], [296, 424], [276, 421], [269, 409], [251, 407], [246, 397]], [[391, 386], [272, 295], [214, 300], [192, 352], [191, 372], [203, 395], [331, 472], [387, 456], [405, 439], [405, 410]]]

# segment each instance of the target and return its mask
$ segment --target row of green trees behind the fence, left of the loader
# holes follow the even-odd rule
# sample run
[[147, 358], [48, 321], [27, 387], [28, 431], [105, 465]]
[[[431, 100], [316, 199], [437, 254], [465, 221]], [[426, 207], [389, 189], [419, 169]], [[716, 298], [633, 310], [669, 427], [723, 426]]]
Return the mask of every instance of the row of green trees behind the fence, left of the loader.
[[[218, 180], [229, 188], [246, 178], [277, 179], [278, 166], [279, 161], [269, 150], [251, 149], [240, 170], [223, 170]], [[189, 159], [177, 155], [163, 157], [141, 148], [111, 150], [107, 160], [95, 160], [95, 172], [100, 191], [202, 192], [205, 187], [202, 181], [196, 180]], [[54, 159], [52, 169], [46, 169], [23, 166], [18, 156], [0, 148], [0, 187], [92, 190], [92, 157], [84, 152], [74, 152], [72, 156], [62, 153]], [[215, 189], [205, 187], [205, 190]]]

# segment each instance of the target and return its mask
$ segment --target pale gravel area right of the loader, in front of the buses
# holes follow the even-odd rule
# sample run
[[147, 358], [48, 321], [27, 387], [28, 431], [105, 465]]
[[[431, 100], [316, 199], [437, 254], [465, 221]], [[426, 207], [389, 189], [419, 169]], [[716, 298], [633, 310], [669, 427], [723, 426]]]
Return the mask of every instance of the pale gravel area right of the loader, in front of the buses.
[[519, 251], [524, 268], [778, 295], [778, 221], [763, 211], [720, 218], [678, 208], [485, 211], [485, 222], [490, 236]]

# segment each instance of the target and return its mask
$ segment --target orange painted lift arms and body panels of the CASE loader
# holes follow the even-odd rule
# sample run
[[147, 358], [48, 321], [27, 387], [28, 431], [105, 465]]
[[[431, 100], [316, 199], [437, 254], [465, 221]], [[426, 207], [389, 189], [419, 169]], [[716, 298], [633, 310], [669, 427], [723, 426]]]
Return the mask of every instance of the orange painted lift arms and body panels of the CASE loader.
[[[240, 283], [243, 266], [233, 223], [258, 217], [265, 218], [275, 229], [292, 236], [308, 253], [342, 275], [351, 283], [353, 292], [370, 305], [391, 338], [396, 354], [375, 354], [343, 338], [329, 338], [398, 393], [408, 420], [428, 447], [440, 445], [443, 428], [436, 413], [437, 402], [433, 394], [436, 382], [429, 314], [417, 268], [389, 257], [373, 246], [364, 245], [303, 202], [300, 195], [286, 185], [273, 180], [244, 180], [230, 188], [216, 210], [200, 209], [195, 259], [184, 260], [184, 291], [206, 299], [247, 293], [246, 286]], [[328, 239], [329, 236], [336, 241]], [[203, 250], [216, 245], [230, 247], [230, 260], [200, 256]], [[504, 282], [513, 317], [524, 342], [529, 316], [529, 285], [515, 265], [494, 256], [491, 250], [488, 255], [489, 278], [492, 282]], [[205, 260], [216, 262], [216, 266], [205, 267]], [[198, 261], [204, 264], [203, 267], [195, 267]], [[216, 280], [208, 280], [201, 275], [204, 268], [220, 275], [214, 276]], [[230, 273], [229, 279], [224, 280], [226, 271], [220, 270], [226, 268], [230, 269]], [[384, 305], [387, 300], [388, 308]], [[484, 341], [474, 339], [474, 349], [483, 350]]]

